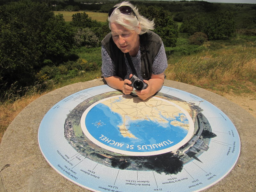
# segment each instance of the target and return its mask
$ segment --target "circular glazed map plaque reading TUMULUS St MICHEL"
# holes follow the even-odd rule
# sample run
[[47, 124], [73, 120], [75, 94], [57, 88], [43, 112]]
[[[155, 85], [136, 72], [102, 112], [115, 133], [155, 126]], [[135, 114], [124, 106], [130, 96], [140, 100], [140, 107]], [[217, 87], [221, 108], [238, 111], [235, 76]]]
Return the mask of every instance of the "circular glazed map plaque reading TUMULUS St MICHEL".
[[148, 100], [107, 85], [54, 105], [38, 132], [47, 162], [92, 191], [201, 191], [236, 164], [240, 140], [220, 109], [163, 88]]

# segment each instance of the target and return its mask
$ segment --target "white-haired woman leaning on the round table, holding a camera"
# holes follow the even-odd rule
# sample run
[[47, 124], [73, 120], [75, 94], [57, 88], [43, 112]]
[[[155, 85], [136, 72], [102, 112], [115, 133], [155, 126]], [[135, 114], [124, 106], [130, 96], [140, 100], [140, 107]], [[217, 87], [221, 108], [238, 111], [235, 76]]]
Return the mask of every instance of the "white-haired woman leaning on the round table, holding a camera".
[[148, 99], [161, 89], [167, 68], [164, 44], [149, 31], [154, 29], [154, 22], [141, 16], [129, 2], [110, 9], [108, 22], [111, 33], [101, 41], [104, 79], [110, 87], [130, 94], [133, 87], [129, 79], [136, 75], [148, 86], [135, 92], [140, 99]]

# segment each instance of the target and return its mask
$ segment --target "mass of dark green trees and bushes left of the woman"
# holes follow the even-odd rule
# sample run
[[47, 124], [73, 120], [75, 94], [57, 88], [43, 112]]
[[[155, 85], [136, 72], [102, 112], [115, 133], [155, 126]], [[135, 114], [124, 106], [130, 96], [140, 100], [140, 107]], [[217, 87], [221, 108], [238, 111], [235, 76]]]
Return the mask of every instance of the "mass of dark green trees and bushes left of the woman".
[[80, 59], [75, 49], [100, 46], [109, 32], [106, 23], [92, 20], [86, 13], [73, 15], [70, 23], [54, 15], [47, 4], [21, 0], [0, 6], [0, 90], [18, 91], [54, 78], [72, 78], [81, 71], [99, 68]]

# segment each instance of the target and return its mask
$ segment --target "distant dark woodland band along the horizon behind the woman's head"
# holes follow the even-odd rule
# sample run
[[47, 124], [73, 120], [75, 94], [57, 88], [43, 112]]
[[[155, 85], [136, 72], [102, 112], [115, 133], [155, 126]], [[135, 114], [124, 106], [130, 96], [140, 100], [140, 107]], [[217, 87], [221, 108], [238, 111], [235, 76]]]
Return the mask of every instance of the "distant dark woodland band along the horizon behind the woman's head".
[[[115, 4], [121, 1], [111, 0], [41, 0], [52, 7], [53, 11], [86, 10], [95, 12], [108, 12]], [[206, 1], [130, 1], [139, 7], [157, 6], [172, 14], [174, 21], [183, 22], [191, 15], [198, 13], [218, 14], [220, 11], [229, 11], [233, 14], [236, 29], [256, 28], [256, 4], [242, 3], [209, 3]], [[72, 9], [73, 7], [73, 9]], [[216, 13], [215, 13], [216, 12]], [[154, 17], [152, 15], [152, 17]]]

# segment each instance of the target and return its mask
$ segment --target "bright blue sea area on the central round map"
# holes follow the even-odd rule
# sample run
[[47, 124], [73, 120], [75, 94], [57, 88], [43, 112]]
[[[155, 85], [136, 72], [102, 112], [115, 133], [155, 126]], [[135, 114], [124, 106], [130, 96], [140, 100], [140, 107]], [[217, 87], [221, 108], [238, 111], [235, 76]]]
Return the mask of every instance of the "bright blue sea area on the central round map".
[[[184, 114], [180, 113], [181, 115]], [[172, 147], [187, 135], [188, 130], [171, 125], [170, 122], [173, 120], [171, 118], [167, 120], [169, 121], [167, 127], [144, 119], [130, 121], [125, 128], [129, 129], [129, 132], [136, 138], [124, 137], [119, 130], [120, 127], [118, 127], [124, 124], [122, 116], [113, 112], [108, 106], [99, 103], [87, 113], [85, 126], [92, 137], [109, 147], [132, 152], [150, 152]], [[179, 116], [174, 120], [181, 121]], [[182, 121], [182, 123], [186, 124], [188, 121]], [[114, 141], [117, 143], [116, 145], [113, 144]], [[164, 141], [166, 141], [166, 145], [163, 144]], [[153, 144], [158, 144], [158, 148], [151, 149], [148, 146], [146, 149], [141, 147]], [[132, 148], [127, 148], [127, 146], [131, 145], [133, 145]]]

